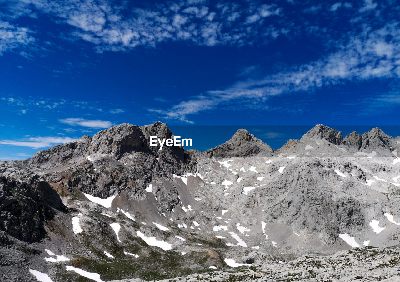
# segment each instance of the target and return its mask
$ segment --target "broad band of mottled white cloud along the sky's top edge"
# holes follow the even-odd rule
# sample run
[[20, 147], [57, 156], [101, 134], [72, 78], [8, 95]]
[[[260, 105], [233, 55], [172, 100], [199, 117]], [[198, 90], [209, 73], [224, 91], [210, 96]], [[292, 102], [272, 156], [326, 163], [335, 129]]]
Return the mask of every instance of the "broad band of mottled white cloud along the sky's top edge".
[[[25, 4], [25, 6], [24, 6]], [[97, 46], [98, 51], [129, 50], [136, 46], [156, 46], [166, 41], [186, 41], [198, 45], [252, 44], [255, 36], [267, 40], [276, 36], [279, 25], [269, 26], [282, 16], [276, 4], [175, 1], [132, 7], [108, 1], [17, 1], [6, 7], [8, 17], [49, 14], [55, 23], [71, 27], [67, 38], [80, 38]], [[267, 18], [272, 18], [268, 20]], [[264, 22], [262, 22], [264, 21]], [[264, 25], [265, 24], [265, 25]], [[28, 33], [28, 30], [26, 30]], [[31, 37], [28, 37], [31, 38]], [[24, 40], [26, 41], [26, 40]]]

